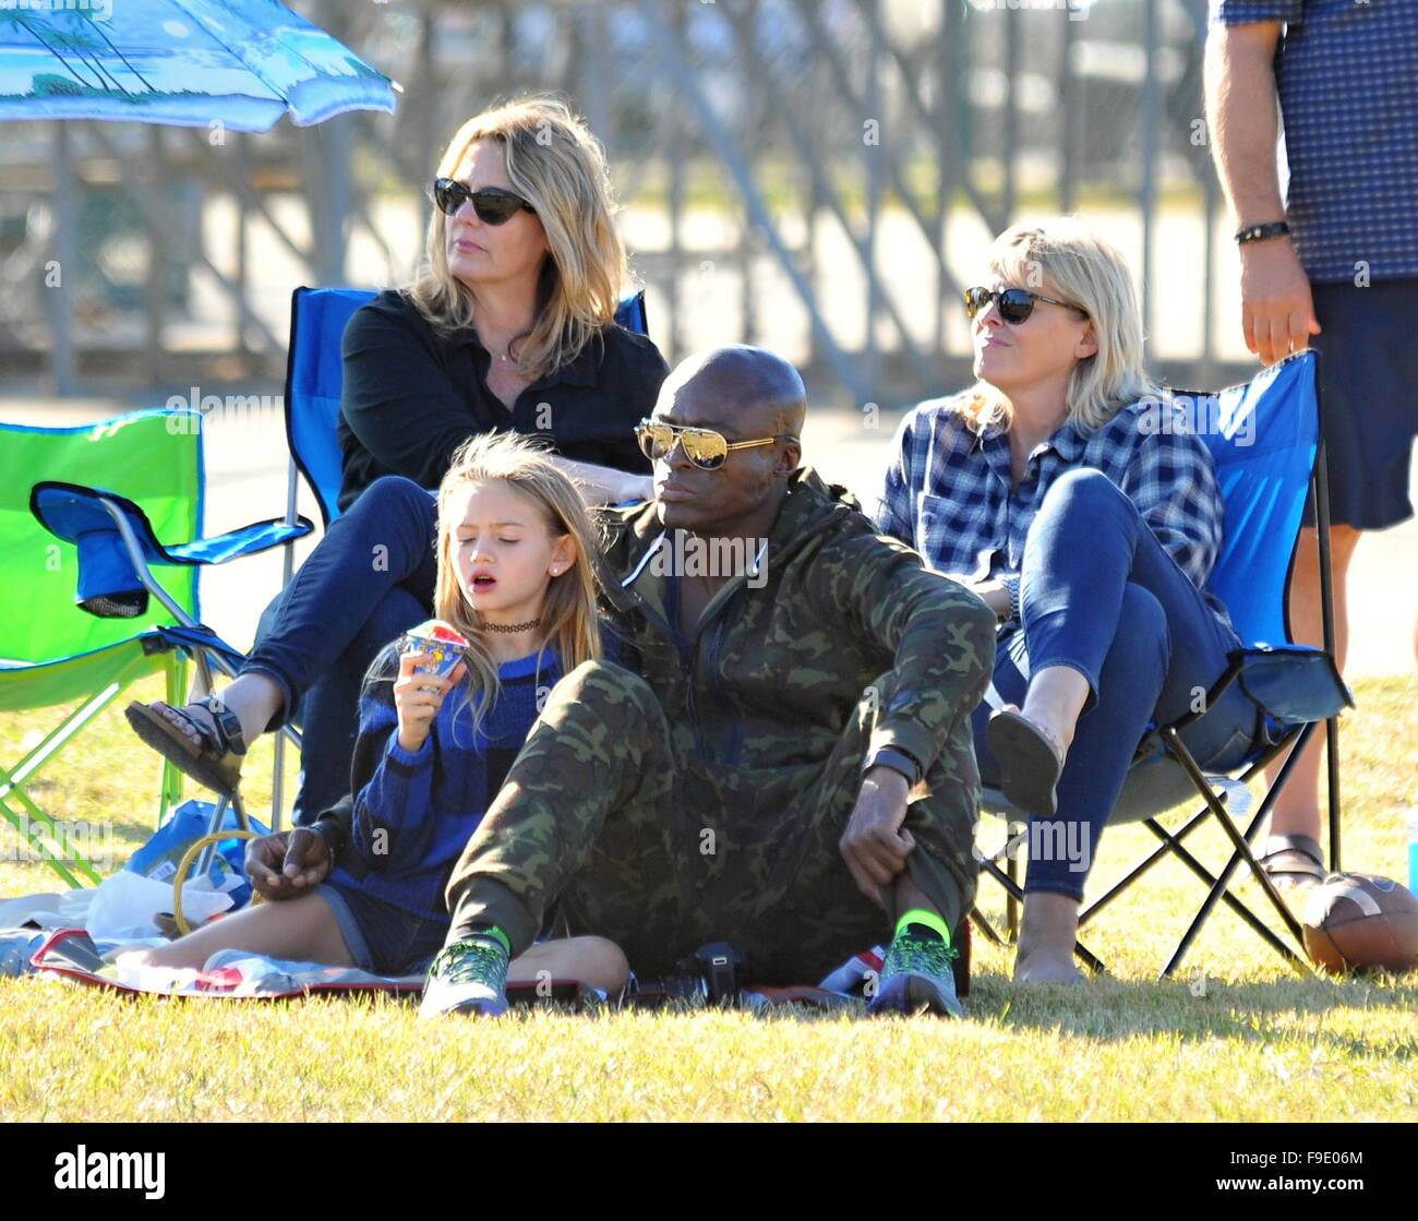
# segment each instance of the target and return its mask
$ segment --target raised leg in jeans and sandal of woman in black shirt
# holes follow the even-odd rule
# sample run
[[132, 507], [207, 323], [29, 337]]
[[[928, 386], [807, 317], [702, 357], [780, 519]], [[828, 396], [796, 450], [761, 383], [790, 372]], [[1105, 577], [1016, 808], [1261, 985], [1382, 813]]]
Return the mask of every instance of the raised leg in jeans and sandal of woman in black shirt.
[[[373, 482], [301, 564], [264, 617], [267, 635], [217, 696], [218, 706], [240, 722], [240, 742], [228, 742], [225, 730], [217, 733], [213, 713], [197, 703], [182, 709], [162, 702], [129, 705], [133, 729], [204, 783], [213, 783], [213, 760], [234, 776], [240, 754], [294, 713], [305, 691], [336, 662], [387, 594], [403, 589], [424, 604], [431, 600], [435, 526], [437, 505], [430, 492], [397, 476]], [[207, 757], [194, 764], [199, 754]]]

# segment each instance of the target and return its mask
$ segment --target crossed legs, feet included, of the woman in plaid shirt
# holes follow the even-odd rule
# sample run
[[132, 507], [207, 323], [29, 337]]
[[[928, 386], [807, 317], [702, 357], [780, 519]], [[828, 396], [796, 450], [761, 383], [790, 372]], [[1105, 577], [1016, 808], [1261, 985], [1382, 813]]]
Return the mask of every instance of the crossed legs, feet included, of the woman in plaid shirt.
[[[1048, 821], [1064, 825], [1035, 830], [1031, 820], [1031, 842], [1068, 845], [1086, 825], [1090, 864], [1149, 720], [1185, 713], [1225, 669], [1235, 635], [1132, 501], [1096, 471], [1071, 472], [1045, 498], [1025, 545], [1021, 617], [1028, 672], [1022, 718], [1004, 719], [1010, 733], [1000, 733], [995, 720], [988, 745], [1007, 796], [1011, 773], [1035, 773], [1028, 784], [1012, 786], [1044, 794], [1032, 800], [1031, 815], [1046, 818], [1046, 798], [1056, 798], [1059, 818]], [[1004, 665], [1000, 674], [1008, 685]], [[1045, 698], [1038, 698], [1041, 688]], [[1207, 762], [1232, 752], [1254, 726], [1255, 709], [1234, 691], [1188, 745]], [[1018, 749], [1035, 727], [1044, 733], [1042, 749]], [[1059, 749], [1052, 752], [1046, 739]], [[1041, 753], [1048, 766], [1038, 766]], [[1075, 868], [1071, 851], [1048, 855], [1029, 861], [1015, 964], [1015, 977], [1025, 981], [1076, 977], [1072, 947], [1086, 869]]]

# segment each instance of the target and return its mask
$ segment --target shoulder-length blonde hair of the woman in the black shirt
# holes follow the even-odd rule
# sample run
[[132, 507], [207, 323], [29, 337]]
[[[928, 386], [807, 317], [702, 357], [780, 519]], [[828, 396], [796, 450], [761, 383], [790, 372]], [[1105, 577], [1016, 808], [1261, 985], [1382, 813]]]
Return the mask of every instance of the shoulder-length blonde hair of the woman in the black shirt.
[[[628, 277], [605, 152], [564, 102], [529, 98], [468, 119], [444, 149], [437, 177], [452, 177], [476, 140], [502, 145], [508, 182], [536, 208], [546, 233], [550, 254], [537, 281], [536, 322], [510, 355], [523, 376], [554, 373], [615, 320]], [[447, 228], [435, 207], [424, 265], [407, 289], [440, 332], [476, 326], [472, 292], [448, 269]]]

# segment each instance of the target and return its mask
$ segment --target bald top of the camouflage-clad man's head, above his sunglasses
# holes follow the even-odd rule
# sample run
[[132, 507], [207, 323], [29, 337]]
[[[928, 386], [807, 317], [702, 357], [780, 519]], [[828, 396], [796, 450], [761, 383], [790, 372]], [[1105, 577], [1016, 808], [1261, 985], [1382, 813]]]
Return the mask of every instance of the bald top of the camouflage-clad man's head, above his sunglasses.
[[681, 393], [696, 407], [715, 404], [744, 435], [801, 437], [807, 418], [803, 379], [781, 356], [763, 347], [733, 343], [688, 356], [661, 389], [661, 401]]

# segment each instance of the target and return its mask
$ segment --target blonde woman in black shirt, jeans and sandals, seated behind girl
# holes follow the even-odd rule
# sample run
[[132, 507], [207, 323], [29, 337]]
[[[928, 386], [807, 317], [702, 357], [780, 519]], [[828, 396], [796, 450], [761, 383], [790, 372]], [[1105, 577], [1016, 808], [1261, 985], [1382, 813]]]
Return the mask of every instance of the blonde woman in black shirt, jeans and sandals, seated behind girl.
[[231, 793], [250, 743], [299, 708], [298, 821], [347, 791], [360, 679], [389, 640], [428, 617], [431, 489], [458, 445], [540, 435], [588, 503], [649, 495], [634, 427], [666, 366], [614, 322], [627, 265], [600, 143], [562, 102], [498, 106], [452, 138], [430, 196], [420, 275], [345, 332], [346, 512], [268, 607], [220, 696], [128, 709], [149, 746]]

